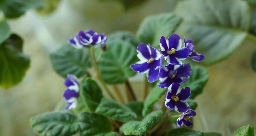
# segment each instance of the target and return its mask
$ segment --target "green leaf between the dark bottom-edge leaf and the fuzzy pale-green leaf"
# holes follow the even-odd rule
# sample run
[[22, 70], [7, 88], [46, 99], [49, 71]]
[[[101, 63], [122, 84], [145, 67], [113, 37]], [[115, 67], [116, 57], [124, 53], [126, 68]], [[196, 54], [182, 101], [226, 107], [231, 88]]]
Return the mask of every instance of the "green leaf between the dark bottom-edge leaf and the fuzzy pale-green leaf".
[[105, 115], [113, 120], [128, 122], [135, 119], [137, 116], [130, 108], [108, 99], [101, 99], [99, 106], [96, 108], [96, 113]]

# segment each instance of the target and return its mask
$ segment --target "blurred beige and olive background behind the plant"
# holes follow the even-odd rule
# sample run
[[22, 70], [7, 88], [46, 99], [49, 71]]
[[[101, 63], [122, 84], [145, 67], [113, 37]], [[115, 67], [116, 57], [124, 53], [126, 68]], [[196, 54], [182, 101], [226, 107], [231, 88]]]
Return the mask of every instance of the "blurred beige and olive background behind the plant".
[[[35, 136], [29, 118], [53, 111], [62, 103], [63, 78], [50, 63], [49, 54], [65, 44], [79, 30], [93, 29], [110, 34], [128, 30], [135, 34], [144, 17], [171, 12], [175, 0], [143, 0], [121, 3], [117, 0], [53, 0], [52, 13], [44, 15], [30, 10], [10, 19], [11, 31], [25, 41], [23, 52], [31, 58], [26, 77], [18, 85], [0, 90], [0, 135]], [[250, 58], [256, 45], [243, 41], [226, 60], [206, 67], [209, 81], [202, 95], [196, 98], [195, 130], [217, 131], [230, 136], [243, 125], [256, 126], [256, 73]], [[130, 79], [137, 97], [142, 75]]]

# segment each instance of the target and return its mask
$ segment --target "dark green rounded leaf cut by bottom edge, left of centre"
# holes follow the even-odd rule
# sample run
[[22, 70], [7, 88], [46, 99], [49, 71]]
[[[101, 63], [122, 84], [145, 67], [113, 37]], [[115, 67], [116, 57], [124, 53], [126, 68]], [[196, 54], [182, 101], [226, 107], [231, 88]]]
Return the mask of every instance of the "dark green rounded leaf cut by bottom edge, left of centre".
[[78, 116], [81, 136], [95, 136], [111, 131], [110, 120], [102, 115], [84, 112]]

